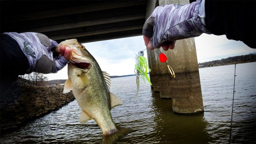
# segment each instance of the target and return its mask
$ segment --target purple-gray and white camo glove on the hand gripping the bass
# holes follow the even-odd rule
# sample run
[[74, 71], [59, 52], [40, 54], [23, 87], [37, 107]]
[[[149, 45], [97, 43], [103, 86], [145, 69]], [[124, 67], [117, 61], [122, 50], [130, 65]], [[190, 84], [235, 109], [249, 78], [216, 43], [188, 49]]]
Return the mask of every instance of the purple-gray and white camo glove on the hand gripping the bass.
[[27, 74], [31, 72], [56, 73], [68, 63], [64, 56], [59, 59], [53, 58], [51, 48], [58, 46], [58, 43], [44, 34], [34, 32], [5, 34], [16, 40], [27, 57], [29, 65]]

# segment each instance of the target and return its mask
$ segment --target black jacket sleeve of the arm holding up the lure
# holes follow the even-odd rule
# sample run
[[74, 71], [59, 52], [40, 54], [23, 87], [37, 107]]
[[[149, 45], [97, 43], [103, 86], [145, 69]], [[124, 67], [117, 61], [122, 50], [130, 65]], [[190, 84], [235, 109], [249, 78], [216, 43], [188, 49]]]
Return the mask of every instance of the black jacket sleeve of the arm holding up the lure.
[[255, 0], [206, 0], [206, 28], [256, 48]]

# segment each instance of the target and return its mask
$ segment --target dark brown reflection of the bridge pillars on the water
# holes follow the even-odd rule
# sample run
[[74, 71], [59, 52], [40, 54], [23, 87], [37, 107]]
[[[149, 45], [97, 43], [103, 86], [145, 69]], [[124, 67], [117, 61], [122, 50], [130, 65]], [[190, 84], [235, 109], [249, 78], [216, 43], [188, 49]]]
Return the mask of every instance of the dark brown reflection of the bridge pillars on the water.
[[154, 121], [158, 143], [211, 142], [206, 130], [208, 123], [204, 119], [204, 114], [177, 115], [172, 112], [171, 99], [160, 99], [159, 93], [155, 96], [158, 98], [154, 98], [152, 104], [156, 114]]

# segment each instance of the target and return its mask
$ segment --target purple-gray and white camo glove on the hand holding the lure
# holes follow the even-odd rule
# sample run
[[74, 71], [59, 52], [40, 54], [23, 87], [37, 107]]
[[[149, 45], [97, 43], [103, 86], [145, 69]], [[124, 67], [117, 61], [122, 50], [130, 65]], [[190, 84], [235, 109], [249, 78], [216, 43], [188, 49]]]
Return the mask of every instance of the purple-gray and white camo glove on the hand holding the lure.
[[191, 4], [158, 6], [146, 20], [142, 34], [151, 37], [154, 48], [165, 41], [197, 37], [202, 33], [211, 34], [200, 20], [199, 6], [202, 0]]

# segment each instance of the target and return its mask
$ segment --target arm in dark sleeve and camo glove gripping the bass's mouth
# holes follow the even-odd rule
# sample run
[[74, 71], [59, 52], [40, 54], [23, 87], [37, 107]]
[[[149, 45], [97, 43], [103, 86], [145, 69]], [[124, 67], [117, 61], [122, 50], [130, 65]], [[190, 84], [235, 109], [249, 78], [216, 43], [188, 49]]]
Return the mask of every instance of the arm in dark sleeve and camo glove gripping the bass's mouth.
[[38, 72], [57, 73], [66, 66], [71, 50], [63, 46], [57, 57], [52, 48], [58, 43], [46, 35], [35, 32], [6, 32], [1, 34], [1, 93], [14, 82], [19, 75]]

